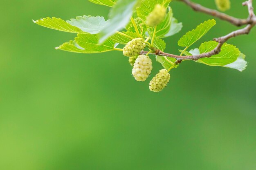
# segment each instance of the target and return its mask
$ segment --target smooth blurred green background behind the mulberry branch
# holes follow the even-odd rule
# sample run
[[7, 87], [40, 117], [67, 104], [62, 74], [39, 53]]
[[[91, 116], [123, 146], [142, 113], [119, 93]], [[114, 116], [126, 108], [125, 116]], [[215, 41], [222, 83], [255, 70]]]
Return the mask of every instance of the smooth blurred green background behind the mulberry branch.
[[[195, 0], [215, 8], [213, 0]], [[247, 17], [243, 0], [227, 13]], [[204, 20], [171, 2], [182, 31], [167, 52]], [[121, 52], [77, 54], [54, 47], [73, 40], [32, 22], [46, 16], [107, 17], [108, 7], [87, 0], [1, 0], [1, 170], [255, 170], [256, 29], [232, 39], [248, 67], [184, 62], [161, 93], [135, 82]], [[236, 27], [217, 20], [201, 42]], [[153, 73], [161, 68], [153, 63]]]

